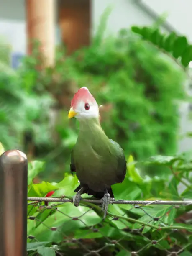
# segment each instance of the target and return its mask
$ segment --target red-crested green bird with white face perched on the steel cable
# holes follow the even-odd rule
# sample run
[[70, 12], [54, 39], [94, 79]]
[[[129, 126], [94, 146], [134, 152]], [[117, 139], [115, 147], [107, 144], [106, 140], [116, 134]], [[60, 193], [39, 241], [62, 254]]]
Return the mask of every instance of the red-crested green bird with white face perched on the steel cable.
[[100, 124], [99, 106], [87, 87], [81, 87], [71, 100], [68, 118], [77, 118], [79, 133], [71, 152], [70, 170], [76, 173], [79, 186], [74, 190], [74, 206], [79, 206], [86, 193], [102, 200], [103, 218], [111, 198], [111, 186], [122, 183], [126, 159], [120, 145], [108, 138]]

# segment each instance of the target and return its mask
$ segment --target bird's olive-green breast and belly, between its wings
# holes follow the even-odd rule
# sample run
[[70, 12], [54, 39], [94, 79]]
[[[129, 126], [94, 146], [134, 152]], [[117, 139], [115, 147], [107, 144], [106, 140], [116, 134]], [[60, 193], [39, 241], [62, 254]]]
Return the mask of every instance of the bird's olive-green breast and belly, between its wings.
[[103, 191], [117, 180], [118, 156], [100, 124], [89, 120], [81, 126], [73, 149], [76, 173], [81, 184]]

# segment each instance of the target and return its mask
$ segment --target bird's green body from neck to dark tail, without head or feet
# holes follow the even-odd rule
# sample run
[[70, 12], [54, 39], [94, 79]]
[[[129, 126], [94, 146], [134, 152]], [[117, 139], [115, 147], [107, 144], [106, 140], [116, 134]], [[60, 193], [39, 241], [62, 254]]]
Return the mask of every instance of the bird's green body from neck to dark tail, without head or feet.
[[87, 194], [101, 198], [105, 189], [113, 197], [111, 185], [125, 178], [126, 160], [123, 149], [110, 140], [97, 118], [80, 121], [80, 131], [71, 156], [71, 171], [75, 171], [80, 187]]

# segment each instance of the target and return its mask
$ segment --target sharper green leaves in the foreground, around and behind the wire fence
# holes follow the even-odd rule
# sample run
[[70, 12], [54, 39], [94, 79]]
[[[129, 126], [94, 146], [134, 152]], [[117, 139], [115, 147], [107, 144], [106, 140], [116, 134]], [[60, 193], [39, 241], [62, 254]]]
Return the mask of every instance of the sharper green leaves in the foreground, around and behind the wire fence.
[[[191, 152], [180, 156], [154, 156], [142, 163], [135, 163], [133, 157], [129, 156], [125, 180], [121, 184], [113, 185], [115, 199], [182, 200], [183, 197], [192, 199], [192, 177], [189, 175], [192, 170], [191, 159]], [[138, 164], [139, 168], [136, 167]], [[140, 173], [143, 166], [151, 164], [154, 168], [156, 166], [166, 168], [170, 171], [170, 175], [142, 177]], [[33, 184], [32, 180], [42, 171], [43, 163], [36, 161], [32, 166], [28, 173], [29, 196], [45, 197], [48, 192], [55, 191], [54, 197], [65, 195], [65, 198], [72, 199], [74, 189], [78, 186], [76, 176], [66, 174], [59, 183]], [[187, 184], [185, 184], [186, 179]], [[179, 191], [181, 184], [185, 184], [182, 192]], [[59, 251], [65, 255], [80, 256], [86, 252], [80, 246], [81, 243], [94, 251], [106, 247], [100, 255], [108, 256], [131, 255], [125, 250], [139, 251], [143, 247], [145, 249], [139, 252], [139, 255], [144, 256], [148, 253], [148, 255], [164, 256], [168, 255], [168, 252], [171, 255], [173, 251], [182, 252], [183, 248], [183, 254], [179, 255], [191, 255], [192, 205], [180, 207], [153, 205], [142, 207], [143, 210], [134, 208], [133, 205], [110, 205], [108, 215], [103, 221], [103, 212], [97, 205], [83, 201], [80, 202], [79, 207], [74, 207], [70, 202], [55, 204], [56, 202], [49, 202], [46, 207], [45, 202], [40, 202], [37, 207], [37, 203], [34, 205], [32, 202], [28, 205], [28, 216], [32, 216], [28, 218], [28, 235], [33, 238], [28, 239], [28, 255], [38, 253], [38, 255], [54, 256]], [[151, 216], [156, 217], [158, 221], [153, 220]], [[162, 217], [159, 219], [160, 216]], [[79, 219], [73, 220], [73, 217]], [[51, 230], [51, 227], [56, 231]], [[173, 228], [177, 228], [177, 232], [171, 231]], [[140, 231], [136, 232], [140, 229], [142, 234]], [[79, 243], [74, 243], [73, 239], [78, 239]], [[110, 240], [118, 243], [107, 247]], [[159, 242], [150, 247], [150, 240]]]

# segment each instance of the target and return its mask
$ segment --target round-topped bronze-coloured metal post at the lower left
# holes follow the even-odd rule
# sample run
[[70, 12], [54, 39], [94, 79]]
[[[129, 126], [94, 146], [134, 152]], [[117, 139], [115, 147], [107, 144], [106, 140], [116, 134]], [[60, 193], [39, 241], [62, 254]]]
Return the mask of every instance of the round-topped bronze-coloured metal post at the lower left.
[[0, 256], [26, 256], [26, 155], [8, 150], [0, 156]]

